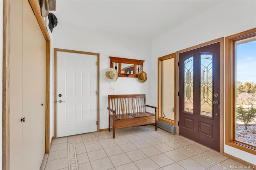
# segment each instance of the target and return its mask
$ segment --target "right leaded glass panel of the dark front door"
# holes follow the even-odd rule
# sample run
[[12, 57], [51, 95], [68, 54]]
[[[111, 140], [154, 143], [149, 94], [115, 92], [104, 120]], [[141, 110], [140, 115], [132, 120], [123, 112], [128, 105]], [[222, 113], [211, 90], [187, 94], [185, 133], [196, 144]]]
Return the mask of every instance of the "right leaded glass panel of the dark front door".
[[200, 115], [212, 117], [212, 54], [201, 54]]

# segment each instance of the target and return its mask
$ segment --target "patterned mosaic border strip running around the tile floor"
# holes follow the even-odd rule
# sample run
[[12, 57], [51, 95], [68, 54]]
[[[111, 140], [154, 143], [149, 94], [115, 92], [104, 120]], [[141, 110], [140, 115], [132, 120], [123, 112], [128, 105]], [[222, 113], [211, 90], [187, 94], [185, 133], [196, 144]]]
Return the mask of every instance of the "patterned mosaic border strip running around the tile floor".
[[[168, 138], [166, 136], [164, 136], [163, 134], [152, 130], [151, 128], [148, 127], [144, 127], [144, 128], [140, 128], [139, 130], [132, 130], [130, 132], [123, 132], [123, 133], [119, 133], [116, 134], [116, 136], [120, 136], [120, 135], [124, 135], [124, 134], [130, 134], [130, 133], [134, 133], [134, 132], [143, 132], [143, 131], [148, 131], [150, 130], [151, 132], [154, 132], [155, 134], [158, 134], [159, 136], [169, 140], [170, 142], [172, 142], [173, 144], [176, 144], [177, 146], [180, 146], [181, 148], [183, 148], [184, 150], [194, 154], [195, 156], [198, 156], [199, 158], [202, 158], [203, 160], [206, 160], [207, 162], [210, 162], [211, 164], [217, 166], [218, 168], [222, 169], [222, 170], [232, 170], [230, 168], [228, 168], [227, 166], [220, 164], [219, 162], [212, 160], [211, 158], [208, 158], [207, 156], [204, 156], [201, 153], [198, 153], [186, 146], [184, 146], [183, 144], [180, 144], [178, 142], [176, 142], [175, 140], [172, 140], [171, 138]], [[68, 169], [69, 170], [79, 170], [78, 168], [78, 160], [77, 160], [77, 156], [76, 156], [76, 150], [75, 148], [75, 144], [80, 143], [80, 142], [84, 142], [84, 141], [88, 141], [88, 140], [96, 140], [96, 139], [100, 139], [100, 138], [107, 138], [107, 137], [112, 137], [112, 135], [106, 135], [106, 136], [99, 136], [99, 137], [95, 137], [95, 138], [90, 138], [90, 139], [86, 139], [86, 140], [79, 140], [79, 141], [75, 141], [75, 142], [68, 142]]]

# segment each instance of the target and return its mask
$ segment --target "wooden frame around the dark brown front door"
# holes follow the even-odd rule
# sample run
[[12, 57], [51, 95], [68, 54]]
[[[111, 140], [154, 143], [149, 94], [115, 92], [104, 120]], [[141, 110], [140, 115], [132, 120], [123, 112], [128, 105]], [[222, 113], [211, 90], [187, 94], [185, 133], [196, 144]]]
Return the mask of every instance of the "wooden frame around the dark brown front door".
[[[176, 87], [179, 87], [179, 54], [190, 51], [193, 49], [197, 49], [200, 47], [204, 47], [206, 45], [211, 45], [213, 43], [220, 42], [220, 154], [224, 154], [224, 37], [218, 38], [216, 40], [212, 40], [209, 42], [201, 43], [199, 45], [195, 45], [193, 47], [189, 47], [186, 49], [182, 49], [176, 52]], [[178, 95], [178, 88], [176, 88], [176, 95]], [[176, 121], [179, 121], [179, 100], [176, 101]], [[178, 123], [176, 124], [176, 133], [179, 134]]]

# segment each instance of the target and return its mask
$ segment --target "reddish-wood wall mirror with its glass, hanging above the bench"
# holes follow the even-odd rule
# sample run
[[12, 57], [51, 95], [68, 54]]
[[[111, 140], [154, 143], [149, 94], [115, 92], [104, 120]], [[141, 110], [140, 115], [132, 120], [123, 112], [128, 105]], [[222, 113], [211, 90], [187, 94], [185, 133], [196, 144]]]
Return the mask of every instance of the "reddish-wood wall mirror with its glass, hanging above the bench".
[[145, 60], [128, 59], [120, 57], [109, 57], [110, 67], [118, 72], [118, 77], [138, 77], [138, 73], [143, 71]]

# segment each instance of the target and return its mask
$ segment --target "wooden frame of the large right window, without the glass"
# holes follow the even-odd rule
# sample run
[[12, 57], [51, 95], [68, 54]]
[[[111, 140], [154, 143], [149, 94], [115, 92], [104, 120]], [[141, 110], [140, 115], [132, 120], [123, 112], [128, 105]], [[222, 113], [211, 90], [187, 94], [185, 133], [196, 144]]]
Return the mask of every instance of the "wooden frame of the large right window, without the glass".
[[256, 154], [256, 146], [236, 140], [236, 42], [256, 36], [256, 28], [226, 37], [225, 123], [226, 145]]

